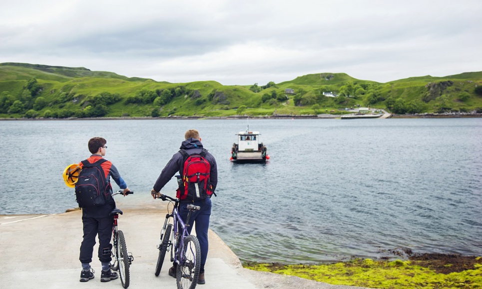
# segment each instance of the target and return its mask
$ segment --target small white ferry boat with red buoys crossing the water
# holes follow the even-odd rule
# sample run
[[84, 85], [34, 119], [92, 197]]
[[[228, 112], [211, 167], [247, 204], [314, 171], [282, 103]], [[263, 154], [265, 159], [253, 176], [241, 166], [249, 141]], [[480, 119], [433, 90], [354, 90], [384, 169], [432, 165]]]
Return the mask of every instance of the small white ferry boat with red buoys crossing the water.
[[269, 159], [266, 146], [260, 143], [259, 132], [239, 132], [238, 143], [231, 148], [231, 161], [233, 162], [266, 162]]

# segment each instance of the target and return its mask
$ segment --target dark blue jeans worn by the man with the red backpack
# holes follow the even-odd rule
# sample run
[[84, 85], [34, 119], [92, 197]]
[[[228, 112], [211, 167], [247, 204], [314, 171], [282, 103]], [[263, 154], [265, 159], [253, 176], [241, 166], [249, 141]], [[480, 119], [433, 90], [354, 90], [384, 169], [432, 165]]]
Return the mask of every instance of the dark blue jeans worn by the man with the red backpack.
[[[192, 203], [180, 203], [179, 204], [179, 215], [183, 221], [187, 219], [187, 205]], [[204, 264], [206, 264], [207, 252], [209, 250], [209, 241], [207, 233], [209, 230], [209, 218], [211, 217], [211, 199], [207, 198], [200, 201], [195, 201], [193, 203], [196, 206], [200, 206], [199, 211], [194, 211], [191, 213], [191, 218], [189, 219], [188, 233], [191, 234], [192, 225], [196, 222], [196, 236], [199, 240], [199, 245], [201, 246], [201, 273], [204, 272]]]

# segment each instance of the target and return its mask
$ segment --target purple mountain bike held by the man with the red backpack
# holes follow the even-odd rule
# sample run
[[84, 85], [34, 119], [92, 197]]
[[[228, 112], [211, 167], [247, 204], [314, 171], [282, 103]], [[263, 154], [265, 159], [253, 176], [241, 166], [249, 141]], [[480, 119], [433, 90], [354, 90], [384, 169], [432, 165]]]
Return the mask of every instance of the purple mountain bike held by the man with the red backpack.
[[[201, 267], [201, 247], [196, 236], [189, 235], [187, 229], [189, 227], [189, 219], [191, 213], [199, 210], [199, 206], [192, 204], [187, 205], [189, 210], [187, 219], [184, 220], [179, 215], [179, 199], [171, 198], [169, 196], [160, 194], [161, 200], [168, 200], [169, 203], [174, 203], [172, 213], [166, 215], [164, 226], [161, 230], [161, 238], [157, 249], [159, 249], [159, 256], [157, 258], [155, 275], [159, 276], [161, 272], [162, 263], [167, 251], [171, 252], [171, 262], [177, 264], [176, 283], [178, 289], [194, 289], [196, 288], [199, 270]], [[173, 223], [169, 223], [172, 218]], [[179, 229], [181, 232], [179, 232]], [[171, 235], [171, 231], [173, 234]]]

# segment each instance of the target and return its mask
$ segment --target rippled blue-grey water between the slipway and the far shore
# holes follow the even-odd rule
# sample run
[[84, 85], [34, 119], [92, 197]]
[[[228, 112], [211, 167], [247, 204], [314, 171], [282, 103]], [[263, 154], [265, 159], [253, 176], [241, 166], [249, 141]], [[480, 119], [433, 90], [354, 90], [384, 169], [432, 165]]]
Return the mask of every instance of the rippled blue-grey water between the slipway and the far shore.
[[[91, 137], [150, 198], [187, 129], [216, 157], [211, 228], [243, 261], [318, 263], [387, 251], [482, 254], [482, 119], [250, 120], [271, 159], [229, 161], [246, 120], [1, 121], [0, 214], [75, 207], [61, 179]], [[163, 190], [173, 195], [176, 182]], [[115, 188], [115, 184], [114, 184]], [[149, 199], [150, 198], [150, 199]]]

